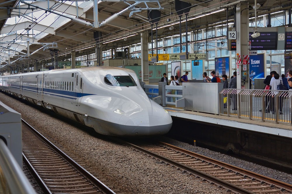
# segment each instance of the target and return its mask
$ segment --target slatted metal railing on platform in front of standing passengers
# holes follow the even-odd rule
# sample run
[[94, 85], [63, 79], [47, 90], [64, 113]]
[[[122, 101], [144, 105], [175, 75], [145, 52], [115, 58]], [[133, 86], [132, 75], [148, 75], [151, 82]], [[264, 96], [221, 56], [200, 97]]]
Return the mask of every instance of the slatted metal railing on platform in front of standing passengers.
[[223, 89], [219, 105], [220, 115], [292, 125], [292, 91]]

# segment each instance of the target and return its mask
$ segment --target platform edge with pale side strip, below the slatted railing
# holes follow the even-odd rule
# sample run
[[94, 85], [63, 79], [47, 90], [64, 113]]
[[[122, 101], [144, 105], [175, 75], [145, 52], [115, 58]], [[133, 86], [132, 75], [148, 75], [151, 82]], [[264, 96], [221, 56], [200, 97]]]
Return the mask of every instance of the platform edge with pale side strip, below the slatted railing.
[[164, 107], [171, 116], [192, 120], [194, 122], [203, 122], [208, 124], [217, 124], [225, 127], [244, 129], [248, 131], [260, 132], [286, 138], [292, 138], [292, 127], [289, 124], [277, 124], [273, 122], [261, 122], [258, 120], [249, 120], [223, 115], [201, 113], [196, 111], [187, 111], [181, 108]]

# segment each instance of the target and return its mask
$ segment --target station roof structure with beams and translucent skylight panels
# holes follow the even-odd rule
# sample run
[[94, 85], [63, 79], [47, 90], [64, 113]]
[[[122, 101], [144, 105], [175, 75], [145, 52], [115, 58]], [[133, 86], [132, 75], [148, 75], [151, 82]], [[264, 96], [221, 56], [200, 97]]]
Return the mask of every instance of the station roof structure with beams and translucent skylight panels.
[[[175, 8], [177, 1], [0, 0], [0, 69], [49, 59], [54, 51], [58, 51], [60, 60], [70, 57], [66, 53], [71, 51], [77, 51], [76, 56], [94, 53], [96, 32], [101, 32], [98, 45], [103, 49], [140, 42], [140, 33], [151, 33], [151, 24], [154, 24], [156, 36], [156, 23], [151, 20], [153, 16], [149, 16], [150, 10], [160, 11], [159, 38], [178, 34], [181, 14]], [[187, 12], [189, 32], [225, 24], [227, 15], [228, 19], [234, 18], [234, 7], [239, 3], [248, 3], [250, 16], [255, 14], [254, 0], [182, 1], [190, 6]], [[291, 0], [256, 2], [259, 4], [258, 16], [291, 9], [292, 6]], [[185, 21], [185, 13], [181, 19]]]

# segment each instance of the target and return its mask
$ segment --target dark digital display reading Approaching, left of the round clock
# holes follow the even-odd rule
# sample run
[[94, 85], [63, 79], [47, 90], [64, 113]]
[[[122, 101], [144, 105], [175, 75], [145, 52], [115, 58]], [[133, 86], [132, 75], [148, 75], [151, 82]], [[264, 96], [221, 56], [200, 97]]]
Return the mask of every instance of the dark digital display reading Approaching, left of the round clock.
[[257, 38], [252, 38], [252, 34], [249, 33], [251, 50], [277, 50], [278, 32], [260, 32]]

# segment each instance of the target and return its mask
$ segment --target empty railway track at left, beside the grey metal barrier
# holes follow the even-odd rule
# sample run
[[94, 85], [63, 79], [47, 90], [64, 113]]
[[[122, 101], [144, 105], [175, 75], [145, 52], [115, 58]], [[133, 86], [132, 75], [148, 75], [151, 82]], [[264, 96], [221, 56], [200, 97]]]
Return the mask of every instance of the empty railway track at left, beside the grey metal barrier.
[[114, 193], [23, 120], [21, 129], [23, 161], [44, 193]]

